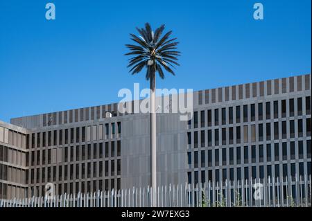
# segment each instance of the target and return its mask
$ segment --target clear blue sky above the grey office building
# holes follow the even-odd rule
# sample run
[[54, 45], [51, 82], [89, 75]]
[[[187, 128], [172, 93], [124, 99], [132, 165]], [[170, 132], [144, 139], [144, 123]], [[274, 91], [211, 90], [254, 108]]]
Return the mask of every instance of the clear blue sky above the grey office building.
[[[55, 3], [56, 19], [45, 19]], [[256, 21], [253, 4], [263, 3]], [[158, 88], [208, 89], [311, 73], [311, 0], [0, 1], [0, 119], [118, 102], [131, 76], [124, 44], [148, 21], [182, 56]]]

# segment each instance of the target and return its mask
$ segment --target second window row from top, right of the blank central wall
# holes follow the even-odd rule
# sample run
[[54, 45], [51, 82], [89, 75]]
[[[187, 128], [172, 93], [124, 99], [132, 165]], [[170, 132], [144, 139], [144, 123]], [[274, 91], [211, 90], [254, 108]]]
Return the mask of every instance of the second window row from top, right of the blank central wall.
[[[305, 133], [303, 126], [304, 123], [306, 125]], [[295, 131], [295, 129], [297, 131]], [[243, 130], [243, 140], [241, 137], [241, 130]], [[271, 130], [273, 130], [272, 133]], [[266, 136], [264, 136], [264, 133]], [[198, 137], [199, 134], [200, 138]], [[236, 134], [235, 139], [234, 134]], [[259, 123], [254, 125], [243, 125], [237, 127], [224, 127], [220, 129], [207, 130], [207, 134], [205, 130], [201, 130], [200, 132], [195, 131], [193, 132], [193, 148], [198, 148], [199, 141], [200, 146], [205, 147], [206, 145], [231, 145], [234, 144], [234, 141], [236, 141], [236, 143], [254, 143], [256, 141], [261, 142], [264, 139], [266, 139], [266, 141], [270, 141], [272, 139], [291, 139], [302, 136], [311, 136], [311, 118], [281, 122], [277, 121], [274, 123], [265, 124]], [[207, 144], [205, 143], [206, 139]], [[187, 132], [187, 143], [189, 145], [192, 144], [191, 132]]]

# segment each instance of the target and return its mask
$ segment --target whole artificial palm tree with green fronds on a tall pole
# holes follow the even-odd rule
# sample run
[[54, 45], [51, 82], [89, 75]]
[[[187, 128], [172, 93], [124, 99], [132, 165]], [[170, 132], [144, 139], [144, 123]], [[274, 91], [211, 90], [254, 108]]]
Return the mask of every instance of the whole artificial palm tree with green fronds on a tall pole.
[[162, 36], [164, 25], [156, 28], [153, 32], [150, 24], [146, 23], [145, 28], [137, 28], [139, 36], [131, 35], [131, 39], [136, 43], [126, 44], [130, 49], [125, 55], [132, 55], [129, 59], [128, 67], [130, 73], [135, 74], [146, 68], [146, 80], [150, 80], [150, 184], [153, 188], [152, 206], [156, 206], [156, 109], [155, 109], [155, 88], [156, 72], [164, 79], [164, 70], [175, 75], [171, 67], [179, 65], [177, 56], [180, 55], [177, 49], [176, 38], [171, 38], [172, 31]]

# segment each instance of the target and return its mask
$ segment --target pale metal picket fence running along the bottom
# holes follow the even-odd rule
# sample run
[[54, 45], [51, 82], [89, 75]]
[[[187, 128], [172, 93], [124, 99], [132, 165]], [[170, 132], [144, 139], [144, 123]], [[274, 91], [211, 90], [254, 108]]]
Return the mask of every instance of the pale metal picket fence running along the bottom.
[[[54, 197], [0, 200], [0, 207], [146, 207], [153, 189], [130, 188], [119, 191], [64, 194]], [[159, 186], [157, 206], [310, 206], [311, 175], [291, 180], [250, 179], [239, 182], [208, 182]]]

